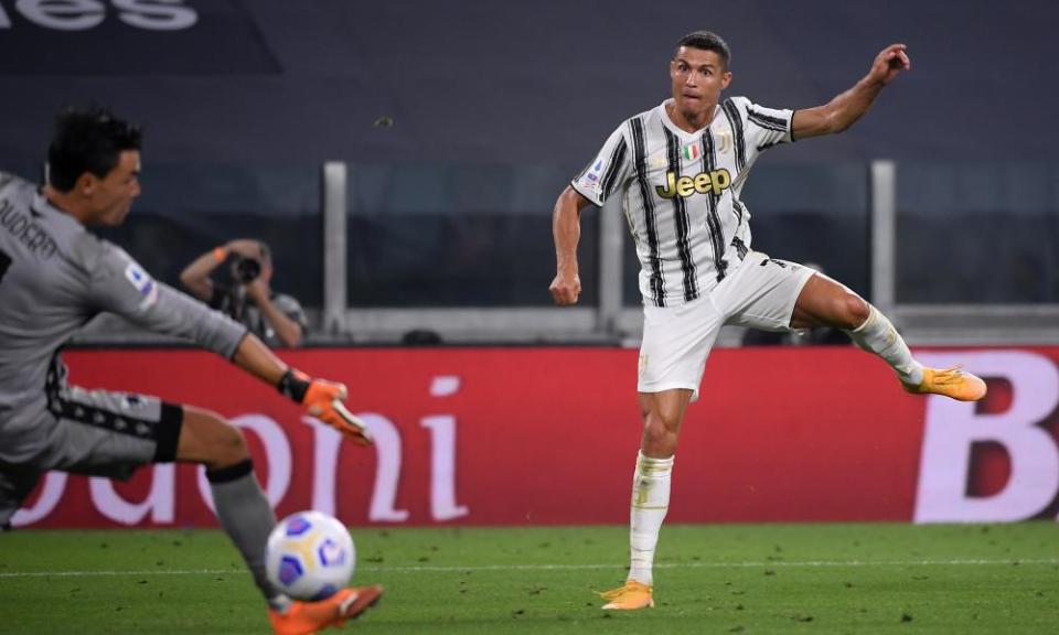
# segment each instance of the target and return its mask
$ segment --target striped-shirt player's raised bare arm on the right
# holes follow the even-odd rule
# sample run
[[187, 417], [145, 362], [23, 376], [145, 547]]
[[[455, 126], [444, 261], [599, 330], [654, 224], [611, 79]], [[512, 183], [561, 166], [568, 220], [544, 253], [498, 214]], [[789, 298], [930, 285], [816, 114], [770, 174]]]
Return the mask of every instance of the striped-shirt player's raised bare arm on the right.
[[852, 88], [824, 106], [794, 112], [791, 132], [794, 139], [834, 134], [853, 126], [875, 103], [887, 84], [912, 67], [905, 44], [890, 44], [875, 57], [871, 68]]

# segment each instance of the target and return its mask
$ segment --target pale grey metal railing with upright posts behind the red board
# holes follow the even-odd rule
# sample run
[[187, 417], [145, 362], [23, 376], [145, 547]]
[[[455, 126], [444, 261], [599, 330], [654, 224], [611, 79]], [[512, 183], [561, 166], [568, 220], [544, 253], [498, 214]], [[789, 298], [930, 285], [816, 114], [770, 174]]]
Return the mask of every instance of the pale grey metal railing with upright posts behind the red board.
[[[596, 301], [575, 308], [354, 308], [349, 302], [351, 209], [359, 200], [356, 165], [329, 162], [321, 170], [320, 209], [323, 236], [320, 270], [322, 303], [310, 308], [309, 343], [397, 344], [411, 332], [436, 334], [447, 344], [612, 344], [634, 346], [641, 333], [638, 299], [625, 297], [623, 266], [628, 257], [628, 229], [620, 201], [608, 202], [598, 215], [591, 252], [597, 255]], [[1059, 304], [910, 304], [898, 293], [902, 262], [898, 248], [898, 165], [875, 161], [866, 166], [870, 271], [868, 295], [916, 345], [930, 344], [1056, 344], [1059, 343]], [[862, 212], [863, 213], [863, 212]], [[528, 239], [528, 238], [527, 238]], [[533, 240], [550, 237], [534, 236]], [[845, 246], [835, 246], [844, 248]], [[944, 246], [939, 250], [944, 254]], [[539, 281], [542, 293], [549, 280]], [[135, 330], [88, 329], [81, 342], [165, 342]], [[738, 345], [741, 331], [727, 327], [719, 346]]]

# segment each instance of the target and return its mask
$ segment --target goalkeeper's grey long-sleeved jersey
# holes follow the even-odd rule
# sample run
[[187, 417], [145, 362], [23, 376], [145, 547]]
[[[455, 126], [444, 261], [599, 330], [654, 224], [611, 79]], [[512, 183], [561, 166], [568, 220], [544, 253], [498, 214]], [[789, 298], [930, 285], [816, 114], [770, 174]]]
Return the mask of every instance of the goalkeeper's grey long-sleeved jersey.
[[46, 409], [60, 347], [100, 312], [231, 357], [246, 327], [153, 280], [35, 185], [0, 172], [0, 443]]

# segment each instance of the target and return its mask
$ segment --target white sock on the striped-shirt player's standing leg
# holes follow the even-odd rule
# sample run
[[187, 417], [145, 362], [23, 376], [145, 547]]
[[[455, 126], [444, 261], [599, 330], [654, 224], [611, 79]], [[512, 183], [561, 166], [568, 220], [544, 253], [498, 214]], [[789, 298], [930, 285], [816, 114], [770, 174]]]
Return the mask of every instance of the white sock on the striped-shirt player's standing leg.
[[673, 474], [673, 458], [650, 459], [640, 452], [637, 458], [637, 473], [632, 481], [632, 505], [630, 513], [630, 552], [631, 566], [629, 580], [646, 585], [654, 583], [654, 547], [659, 543], [659, 531], [670, 509], [670, 477]]

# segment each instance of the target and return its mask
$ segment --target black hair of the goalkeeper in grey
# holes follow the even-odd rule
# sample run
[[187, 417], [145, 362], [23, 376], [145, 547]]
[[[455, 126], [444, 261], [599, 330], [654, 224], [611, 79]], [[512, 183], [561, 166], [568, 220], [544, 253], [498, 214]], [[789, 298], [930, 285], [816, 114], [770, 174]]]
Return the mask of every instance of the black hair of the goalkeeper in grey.
[[118, 119], [106, 108], [67, 108], [55, 117], [55, 132], [47, 148], [47, 181], [60, 192], [69, 192], [85, 172], [103, 179], [118, 164], [121, 152], [139, 150], [139, 126]]

